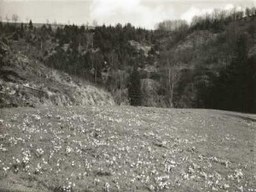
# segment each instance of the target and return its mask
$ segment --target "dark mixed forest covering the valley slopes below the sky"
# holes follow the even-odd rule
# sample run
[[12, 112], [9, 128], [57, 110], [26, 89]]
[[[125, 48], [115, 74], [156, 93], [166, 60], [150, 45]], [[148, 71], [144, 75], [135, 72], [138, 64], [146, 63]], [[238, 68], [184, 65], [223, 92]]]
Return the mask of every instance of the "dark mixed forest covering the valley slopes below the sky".
[[[10, 21], [12, 20], [12, 21]], [[3, 43], [96, 86], [116, 104], [256, 112], [256, 9], [215, 10], [156, 29], [0, 22]], [[3, 62], [3, 57], [0, 58]]]

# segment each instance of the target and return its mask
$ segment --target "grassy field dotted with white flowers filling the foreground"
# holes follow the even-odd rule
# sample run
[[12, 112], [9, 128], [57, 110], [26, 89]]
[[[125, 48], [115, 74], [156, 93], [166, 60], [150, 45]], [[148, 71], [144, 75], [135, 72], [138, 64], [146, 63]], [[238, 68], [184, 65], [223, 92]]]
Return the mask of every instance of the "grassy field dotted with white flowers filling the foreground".
[[256, 191], [256, 115], [0, 109], [0, 191]]

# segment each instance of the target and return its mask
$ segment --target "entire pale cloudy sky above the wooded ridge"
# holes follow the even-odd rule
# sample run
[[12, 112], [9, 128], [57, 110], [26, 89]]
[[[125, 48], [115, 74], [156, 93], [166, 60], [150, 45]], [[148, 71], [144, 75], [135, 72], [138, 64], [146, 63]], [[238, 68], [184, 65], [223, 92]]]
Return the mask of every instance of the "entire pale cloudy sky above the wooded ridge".
[[34, 23], [92, 23], [107, 25], [132, 23], [136, 27], [154, 28], [166, 19], [186, 19], [212, 12], [214, 8], [231, 9], [256, 5], [256, 0], [0, 0], [0, 16]]

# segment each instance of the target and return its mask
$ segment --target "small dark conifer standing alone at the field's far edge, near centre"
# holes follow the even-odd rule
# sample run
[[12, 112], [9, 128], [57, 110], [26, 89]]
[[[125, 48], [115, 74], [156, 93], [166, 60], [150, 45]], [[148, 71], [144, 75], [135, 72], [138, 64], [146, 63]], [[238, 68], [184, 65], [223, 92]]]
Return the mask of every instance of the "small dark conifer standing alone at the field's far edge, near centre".
[[134, 67], [133, 72], [130, 75], [128, 84], [128, 96], [130, 99], [130, 104], [133, 106], [141, 105], [141, 77], [137, 68]]

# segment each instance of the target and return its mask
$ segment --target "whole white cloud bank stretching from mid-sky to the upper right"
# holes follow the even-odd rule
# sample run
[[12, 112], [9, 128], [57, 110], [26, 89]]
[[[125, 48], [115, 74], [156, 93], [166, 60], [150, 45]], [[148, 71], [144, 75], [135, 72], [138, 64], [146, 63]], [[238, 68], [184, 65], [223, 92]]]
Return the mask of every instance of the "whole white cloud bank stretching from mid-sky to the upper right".
[[[252, 0], [243, 0], [243, 3]], [[253, 0], [256, 1], [256, 0]], [[169, 19], [192, 22], [195, 15], [212, 13], [214, 8], [238, 8], [241, 0], [94, 0], [90, 7], [90, 21], [99, 24], [132, 23], [136, 27], [154, 28], [156, 23]]]

